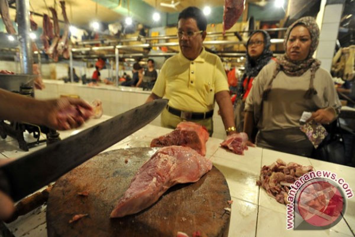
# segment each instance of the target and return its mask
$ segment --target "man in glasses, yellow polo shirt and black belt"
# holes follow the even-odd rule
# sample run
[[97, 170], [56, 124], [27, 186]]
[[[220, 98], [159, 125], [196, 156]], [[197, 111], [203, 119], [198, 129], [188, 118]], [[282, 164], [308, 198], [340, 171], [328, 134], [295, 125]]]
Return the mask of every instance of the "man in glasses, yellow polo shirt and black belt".
[[165, 61], [147, 102], [169, 99], [162, 126], [176, 128], [182, 121], [192, 121], [206, 126], [212, 135], [216, 100], [225, 129], [232, 134], [235, 125], [227, 77], [219, 57], [202, 46], [206, 27], [206, 17], [197, 7], [187, 7], [179, 14], [180, 53]]

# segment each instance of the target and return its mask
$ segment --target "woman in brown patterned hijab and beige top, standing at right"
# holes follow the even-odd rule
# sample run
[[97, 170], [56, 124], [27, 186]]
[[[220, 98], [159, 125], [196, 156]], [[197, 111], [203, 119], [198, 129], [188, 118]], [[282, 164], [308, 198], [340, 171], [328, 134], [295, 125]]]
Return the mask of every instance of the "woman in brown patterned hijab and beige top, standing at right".
[[310, 120], [332, 122], [341, 106], [332, 77], [313, 58], [319, 41], [314, 18], [303, 17], [285, 34], [286, 53], [266, 65], [255, 79], [245, 104], [244, 131], [250, 135], [256, 125], [257, 146], [311, 156], [313, 145], [300, 130], [303, 112]]

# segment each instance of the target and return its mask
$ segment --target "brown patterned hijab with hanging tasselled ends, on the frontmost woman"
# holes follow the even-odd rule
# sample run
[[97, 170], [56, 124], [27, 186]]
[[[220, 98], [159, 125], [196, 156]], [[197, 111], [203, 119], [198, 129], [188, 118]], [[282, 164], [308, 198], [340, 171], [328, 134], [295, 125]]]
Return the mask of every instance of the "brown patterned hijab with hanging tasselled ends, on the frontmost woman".
[[310, 85], [308, 90], [305, 93], [305, 98], [306, 99], [311, 99], [313, 95], [317, 95], [317, 91], [315, 90], [313, 86], [313, 80], [316, 74], [317, 69], [320, 67], [321, 62], [318, 59], [313, 58], [313, 53], [316, 51], [319, 43], [319, 34], [320, 34], [320, 29], [313, 17], [302, 17], [296, 22], [294, 22], [286, 31], [285, 34], [285, 41], [284, 41], [284, 48], [286, 50], [286, 44], [290, 36], [290, 32], [292, 29], [296, 26], [305, 26], [311, 36], [311, 47], [310, 47], [310, 52], [308, 53], [308, 56], [306, 59], [302, 61], [293, 61], [290, 60], [287, 52], [285, 52], [284, 55], [280, 56], [277, 58], [277, 66], [275, 68], [275, 71], [273, 73], [272, 79], [270, 80], [268, 84], [268, 88], [263, 92], [263, 99], [266, 100], [268, 93], [271, 91], [271, 84], [272, 81], [275, 79], [279, 71], [283, 71], [286, 75], [288, 76], [301, 76], [304, 74], [308, 69], [311, 70], [311, 79], [310, 79]]

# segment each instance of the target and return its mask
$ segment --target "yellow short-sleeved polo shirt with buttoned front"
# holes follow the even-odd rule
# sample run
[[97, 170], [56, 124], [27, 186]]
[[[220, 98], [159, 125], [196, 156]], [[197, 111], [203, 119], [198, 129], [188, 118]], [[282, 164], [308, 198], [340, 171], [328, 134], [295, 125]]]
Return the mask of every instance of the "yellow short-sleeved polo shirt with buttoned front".
[[222, 61], [204, 48], [193, 61], [181, 52], [166, 60], [152, 90], [169, 99], [169, 106], [188, 112], [211, 111], [220, 91], [229, 91]]

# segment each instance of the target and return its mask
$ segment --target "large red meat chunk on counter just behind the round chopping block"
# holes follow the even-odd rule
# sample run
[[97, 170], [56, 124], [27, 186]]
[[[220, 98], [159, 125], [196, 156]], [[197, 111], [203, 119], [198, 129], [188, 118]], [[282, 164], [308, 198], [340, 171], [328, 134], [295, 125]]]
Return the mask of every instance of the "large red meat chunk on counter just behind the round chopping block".
[[207, 129], [197, 123], [181, 122], [176, 129], [169, 134], [155, 138], [151, 142], [151, 147], [164, 146], [188, 146], [206, 155], [206, 142], [208, 141]]

